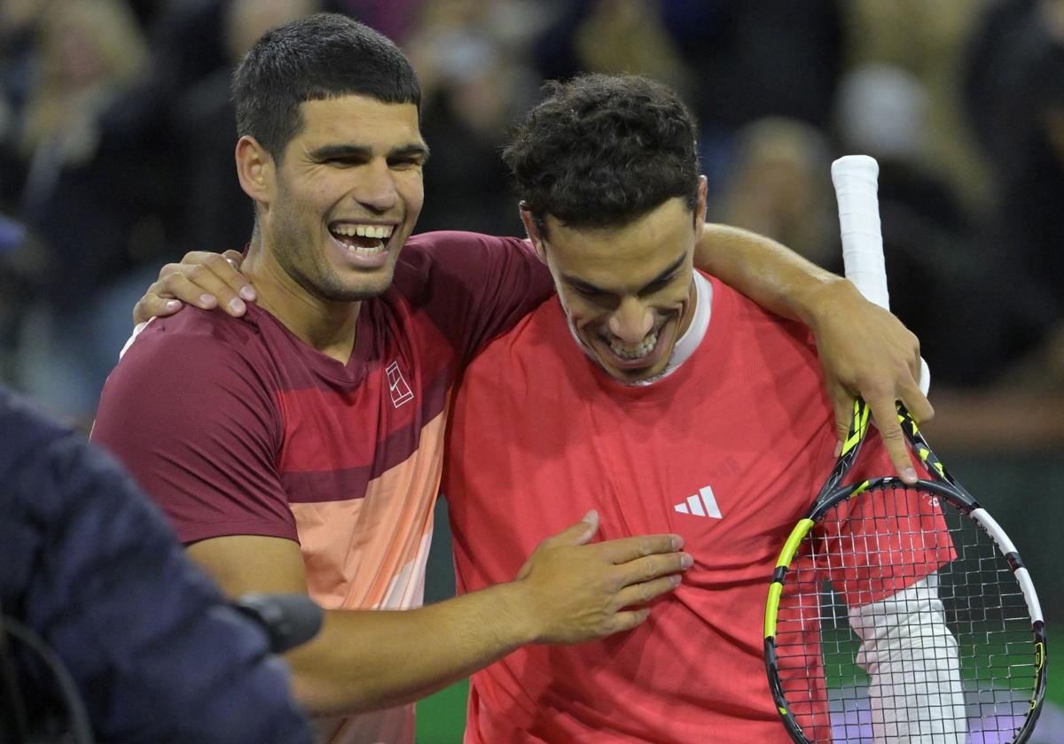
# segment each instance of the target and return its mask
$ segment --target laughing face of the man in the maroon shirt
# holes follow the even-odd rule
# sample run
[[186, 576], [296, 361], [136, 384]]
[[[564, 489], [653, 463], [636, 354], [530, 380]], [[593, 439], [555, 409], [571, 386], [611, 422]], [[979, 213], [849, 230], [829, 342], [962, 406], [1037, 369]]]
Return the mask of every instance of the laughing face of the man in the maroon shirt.
[[283, 159], [262, 155], [263, 193], [249, 191], [264, 258], [314, 300], [376, 297], [392, 284], [421, 210], [428, 148], [417, 107], [343, 96], [305, 101], [300, 113]]

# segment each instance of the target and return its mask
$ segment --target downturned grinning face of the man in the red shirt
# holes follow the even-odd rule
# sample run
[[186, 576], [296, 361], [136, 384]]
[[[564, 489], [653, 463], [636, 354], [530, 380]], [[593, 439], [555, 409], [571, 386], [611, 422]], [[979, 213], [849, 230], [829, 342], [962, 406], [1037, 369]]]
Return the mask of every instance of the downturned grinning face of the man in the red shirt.
[[567, 227], [546, 219], [543, 238], [526, 226], [550, 268], [581, 344], [622, 383], [665, 371], [694, 316], [694, 255], [705, 216], [669, 199], [622, 227]]

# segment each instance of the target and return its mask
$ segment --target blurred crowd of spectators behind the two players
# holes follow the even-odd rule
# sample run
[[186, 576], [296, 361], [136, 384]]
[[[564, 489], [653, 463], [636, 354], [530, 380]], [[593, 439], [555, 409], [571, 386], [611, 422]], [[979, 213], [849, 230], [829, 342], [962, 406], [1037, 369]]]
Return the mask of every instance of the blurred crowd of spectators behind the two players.
[[[520, 235], [508, 125], [544, 80], [580, 71], [676, 86], [700, 122], [711, 219], [836, 271], [830, 163], [878, 158], [932, 442], [992, 509], [1015, 510], [1002, 522], [1028, 564], [1051, 565], [1064, 0], [3, 0], [0, 382], [87, 429], [160, 267], [250, 236], [230, 70], [268, 28], [321, 10], [394, 38], [421, 77], [419, 231]], [[1032, 571], [1057, 581], [1043, 602], [1064, 618], [1064, 579]]]

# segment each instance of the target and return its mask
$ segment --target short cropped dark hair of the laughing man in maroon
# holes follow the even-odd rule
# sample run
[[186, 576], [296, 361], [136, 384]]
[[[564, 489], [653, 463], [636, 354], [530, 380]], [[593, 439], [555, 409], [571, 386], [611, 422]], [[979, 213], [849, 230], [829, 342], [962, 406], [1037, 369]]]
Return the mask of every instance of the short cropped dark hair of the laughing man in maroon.
[[263, 34], [233, 73], [236, 134], [281, 160], [303, 125], [299, 104], [340, 96], [413, 103], [421, 87], [386, 36], [337, 13], [317, 13]]

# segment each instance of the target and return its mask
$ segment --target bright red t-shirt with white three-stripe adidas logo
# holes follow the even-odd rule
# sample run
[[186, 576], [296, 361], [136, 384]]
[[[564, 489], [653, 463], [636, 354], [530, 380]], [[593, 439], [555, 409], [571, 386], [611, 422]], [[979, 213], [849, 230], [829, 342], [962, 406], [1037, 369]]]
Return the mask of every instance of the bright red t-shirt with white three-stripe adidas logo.
[[[701, 343], [652, 385], [599, 370], [556, 299], [466, 371], [444, 476], [462, 591], [512, 579], [592, 508], [601, 539], [677, 532], [695, 559], [635, 630], [475, 674], [467, 742], [789, 742], [765, 677], [765, 599], [834, 462], [833, 413], [807, 328], [712, 284]], [[878, 436], [862, 460], [892, 472]]]

